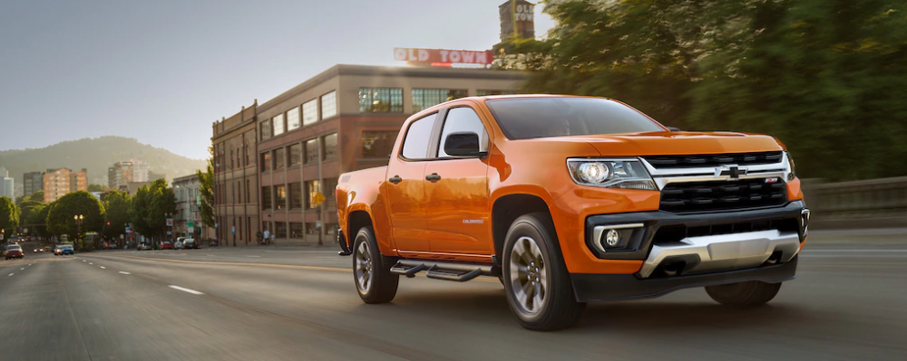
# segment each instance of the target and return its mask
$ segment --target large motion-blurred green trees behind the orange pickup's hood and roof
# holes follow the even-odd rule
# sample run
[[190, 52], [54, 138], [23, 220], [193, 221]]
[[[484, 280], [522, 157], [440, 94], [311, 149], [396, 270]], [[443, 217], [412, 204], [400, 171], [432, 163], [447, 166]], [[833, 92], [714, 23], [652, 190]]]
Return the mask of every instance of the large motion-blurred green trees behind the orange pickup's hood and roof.
[[524, 57], [524, 91], [623, 100], [689, 130], [771, 134], [805, 177], [907, 175], [907, 3], [589, 0], [545, 11], [557, 25]]

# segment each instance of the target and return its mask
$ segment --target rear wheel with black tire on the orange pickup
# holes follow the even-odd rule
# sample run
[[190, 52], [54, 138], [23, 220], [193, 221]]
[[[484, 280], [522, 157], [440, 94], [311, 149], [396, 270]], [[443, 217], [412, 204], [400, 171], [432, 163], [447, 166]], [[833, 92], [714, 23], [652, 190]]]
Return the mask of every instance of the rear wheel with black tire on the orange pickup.
[[363, 302], [390, 302], [396, 296], [400, 276], [391, 273], [393, 263], [385, 262], [375, 241], [372, 226], [359, 229], [353, 243], [353, 282]]

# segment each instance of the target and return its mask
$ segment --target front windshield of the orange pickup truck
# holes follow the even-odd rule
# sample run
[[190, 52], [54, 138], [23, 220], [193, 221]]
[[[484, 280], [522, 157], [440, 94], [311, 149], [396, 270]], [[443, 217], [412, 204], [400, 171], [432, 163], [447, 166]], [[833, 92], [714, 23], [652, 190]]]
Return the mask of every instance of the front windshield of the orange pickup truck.
[[636, 109], [600, 98], [487, 100], [509, 139], [662, 131]]

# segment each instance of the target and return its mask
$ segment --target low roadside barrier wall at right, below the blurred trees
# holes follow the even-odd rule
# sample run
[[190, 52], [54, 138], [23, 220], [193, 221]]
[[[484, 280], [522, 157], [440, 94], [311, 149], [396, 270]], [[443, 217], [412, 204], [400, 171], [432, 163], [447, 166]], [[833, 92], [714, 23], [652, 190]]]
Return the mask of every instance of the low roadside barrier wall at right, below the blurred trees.
[[907, 176], [802, 186], [811, 228], [907, 227]]

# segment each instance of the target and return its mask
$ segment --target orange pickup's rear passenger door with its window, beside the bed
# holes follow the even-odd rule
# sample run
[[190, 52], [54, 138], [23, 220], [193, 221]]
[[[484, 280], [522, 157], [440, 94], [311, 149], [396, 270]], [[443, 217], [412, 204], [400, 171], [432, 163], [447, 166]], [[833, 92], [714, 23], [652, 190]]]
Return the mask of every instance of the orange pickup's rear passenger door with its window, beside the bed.
[[425, 202], [425, 164], [437, 113], [416, 119], [405, 129], [401, 150], [387, 165], [387, 209], [395, 246], [405, 252], [428, 252], [428, 223]]

